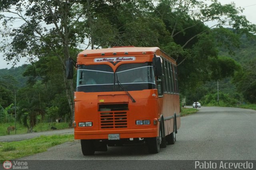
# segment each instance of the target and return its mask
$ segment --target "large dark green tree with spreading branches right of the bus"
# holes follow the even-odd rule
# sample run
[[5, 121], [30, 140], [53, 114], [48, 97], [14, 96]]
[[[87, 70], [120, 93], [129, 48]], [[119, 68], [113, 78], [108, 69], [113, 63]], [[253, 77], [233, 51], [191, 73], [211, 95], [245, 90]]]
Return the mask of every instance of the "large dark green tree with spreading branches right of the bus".
[[[170, 33], [170, 41], [161, 47], [177, 60], [182, 93], [191, 93], [211, 79], [232, 76], [232, 67], [239, 69], [234, 61], [218, 57], [218, 48], [225, 47], [234, 54], [240, 36], [244, 33], [252, 36], [255, 32], [255, 25], [240, 16], [241, 8], [234, 3], [221, 5], [216, 0], [211, 4], [200, 0], [159, 0], [152, 6]], [[210, 21], [216, 24], [206, 26]]]

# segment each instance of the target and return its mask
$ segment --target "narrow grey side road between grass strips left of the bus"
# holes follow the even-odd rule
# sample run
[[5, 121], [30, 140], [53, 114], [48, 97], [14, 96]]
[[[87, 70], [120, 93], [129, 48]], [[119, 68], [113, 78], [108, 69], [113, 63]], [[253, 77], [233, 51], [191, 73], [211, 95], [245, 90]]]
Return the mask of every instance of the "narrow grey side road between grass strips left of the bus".
[[51, 131], [45, 131], [45, 132], [32, 132], [32, 133], [27, 133], [27, 134], [5, 135], [5, 136], [0, 136], [0, 142], [19, 141], [19, 140], [25, 140], [25, 139], [38, 137], [41, 135], [53, 135], [53, 134], [74, 134], [74, 129], [67, 128], [67, 129], [63, 129], [63, 130], [51, 130]]

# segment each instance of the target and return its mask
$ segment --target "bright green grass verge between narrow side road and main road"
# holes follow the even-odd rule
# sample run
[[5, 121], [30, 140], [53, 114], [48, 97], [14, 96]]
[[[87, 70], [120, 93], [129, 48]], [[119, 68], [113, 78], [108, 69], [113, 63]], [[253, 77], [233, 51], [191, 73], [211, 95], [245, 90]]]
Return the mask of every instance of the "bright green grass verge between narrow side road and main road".
[[16, 142], [0, 142], [0, 163], [4, 160], [14, 160], [45, 152], [52, 146], [69, 141], [74, 141], [74, 134], [40, 136]]

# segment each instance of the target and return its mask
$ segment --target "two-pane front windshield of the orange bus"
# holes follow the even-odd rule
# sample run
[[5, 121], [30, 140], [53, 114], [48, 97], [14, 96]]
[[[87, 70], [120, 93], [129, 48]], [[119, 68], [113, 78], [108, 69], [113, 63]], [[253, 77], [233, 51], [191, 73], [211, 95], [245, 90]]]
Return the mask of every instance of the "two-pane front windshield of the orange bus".
[[114, 73], [109, 65], [80, 65], [77, 72], [77, 91], [106, 92], [155, 89], [152, 63], [122, 64]]

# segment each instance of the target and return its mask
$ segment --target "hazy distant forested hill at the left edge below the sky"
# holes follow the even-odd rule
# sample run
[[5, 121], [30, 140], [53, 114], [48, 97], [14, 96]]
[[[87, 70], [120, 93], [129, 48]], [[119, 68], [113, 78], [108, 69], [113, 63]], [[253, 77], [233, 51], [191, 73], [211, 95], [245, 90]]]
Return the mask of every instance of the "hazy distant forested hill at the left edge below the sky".
[[28, 77], [23, 77], [22, 74], [26, 70], [27, 65], [12, 67], [10, 69], [0, 69], [0, 85], [12, 84], [18, 88], [24, 87]]

